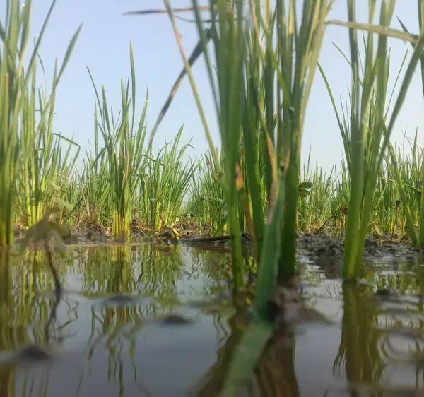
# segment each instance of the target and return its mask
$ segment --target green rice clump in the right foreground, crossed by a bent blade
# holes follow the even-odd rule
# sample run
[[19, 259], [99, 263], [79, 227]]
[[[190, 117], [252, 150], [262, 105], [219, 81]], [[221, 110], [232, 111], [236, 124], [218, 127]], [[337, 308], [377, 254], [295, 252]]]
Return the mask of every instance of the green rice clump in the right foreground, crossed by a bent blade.
[[[405, 37], [405, 35], [389, 28], [394, 10], [394, 1], [382, 1], [378, 26], [372, 25], [376, 8], [375, 1], [370, 0], [369, 3], [368, 24], [356, 23], [356, 5], [354, 0], [348, 0], [347, 5], [348, 23], [335, 22], [338, 25], [344, 25], [349, 28], [351, 47], [351, 61], [349, 62], [352, 69], [350, 105], [349, 109], [346, 109], [346, 112], [343, 110], [341, 115], [336, 108], [324, 71], [322, 69], [320, 71], [336, 112], [338, 126], [343, 138], [351, 185], [343, 276], [346, 278], [357, 278], [362, 264], [365, 237], [370, 231], [370, 218], [373, 208], [372, 198], [377, 184], [377, 175], [384, 160], [384, 152], [389, 144], [394, 122], [401, 110], [413, 71], [422, 54], [424, 35], [420, 35], [416, 41], [416, 47], [401, 83], [388, 127], [386, 127], [385, 120], [388, 113], [386, 103], [387, 83], [390, 62], [387, 36]], [[360, 76], [358, 28], [367, 31], [367, 38], [363, 38], [365, 60], [363, 61], [362, 76]], [[376, 54], [374, 52], [373, 32], [383, 33], [378, 37]], [[416, 38], [409, 36], [408, 40], [416, 40]], [[348, 115], [347, 112], [350, 112], [350, 114]]]

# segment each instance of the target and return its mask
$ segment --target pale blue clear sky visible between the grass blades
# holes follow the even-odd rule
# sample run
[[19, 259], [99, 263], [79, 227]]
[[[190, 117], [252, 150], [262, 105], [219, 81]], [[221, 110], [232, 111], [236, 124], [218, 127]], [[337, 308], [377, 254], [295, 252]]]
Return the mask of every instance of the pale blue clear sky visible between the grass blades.
[[[206, 4], [205, 1], [201, 1]], [[299, 1], [301, 3], [301, 1]], [[367, 21], [368, 0], [357, 0], [358, 21]], [[40, 32], [45, 15], [51, 4], [49, 0], [33, 0], [31, 34]], [[191, 0], [173, 0], [173, 7], [189, 6]], [[57, 0], [52, 18], [40, 48], [45, 66], [47, 84], [52, 81], [54, 60], [64, 57], [69, 40], [83, 23], [81, 34], [76, 42], [69, 64], [57, 88], [54, 130], [71, 138], [81, 145], [81, 164], [85, 150], [93, 147], [93, 112], [95, 93], [90, 82], [87, 67], [90, 68], [96, 85], [105, 86], [107, 98], [115, 109], [120, 109], [120, 79], [126, 80], [130, 74], [129, 44], [134, 49], [136, 66], [136, 101], [138, 108], [148, 90], [147, 129], [148, 134], [155, 123], [161, 107], [170, 93], [175, 78], [182, 69], [182, 59], [172, 33], [170, 19], [166, 14], [151, 16], [124, 16], [126, 11], [163, 8], [160, 0]], [[347, 20], [346, 0], [336, 0], [329, 19]], [[379, 8], [377, 8], [379, 10]], [[378, 12], [377, 12], [378, 13]], [[192, 17], [187, 14], [187, 17]], [[418, 13], [416, 1], [396, 1], [391, 27], [401, 29], [399, 17], [411, 32], [418, 32]], [[0, 13], [4, 18], [4, 11]], [[182, 44], [189, 54], [198, 40], [196, 27], [192, 23], [177, 20], [182, 35]], [[350, 88], [351, 72], [334, 44], [348, 53], [347, 28], [329, 25], [326, 29], [322, 51], [319, 57], [329, 80], [337, 102], [346, 100]], [[411, 54], [411, 45], [401, 40], [390, 39], [392, 46], [390, 87], [393, 86], [406, 50]], [[213, 141], [219, 146], [219, 133], [216, 114], [213, 107], [208, 76], [203, 59], [194, 66], [194, 77], [204, 104], [206, 118], [211, 127]], [[42, 83], [42, 80], [40, 79]], [[390, 88], [389, 88], [390, 89]], [[423, 88], [420, 76], [415, 73], [404, 107], [399, 115], [392, 135], [392, 143], [401, 143], [404, 134], [412, 137], [418, 128], [419, 143], [424, 146], [423, 130]], [[194, 96], [187, 79], [184, 79], [179, 92], [172, 102], [165, 119], [155, 136], [154, 147], [159, 148], [172, 140], [180, 126], [184, 124], [182, 143], [191, 140], [189, 148], [192, 158], [208, 150], [208, 143], [201, 119], [194, 102]], [[341, 135], [336, 123], [334, 110], [329, 100], [324, 81], [319, 71], [314, 78], [305, 117], [305, 129], [302, 138], [302, 162], [306, 160], [309, 148], [312, 148], [312, 165], [315, 162], [329, 170], [338, 165], [343, 153]]]

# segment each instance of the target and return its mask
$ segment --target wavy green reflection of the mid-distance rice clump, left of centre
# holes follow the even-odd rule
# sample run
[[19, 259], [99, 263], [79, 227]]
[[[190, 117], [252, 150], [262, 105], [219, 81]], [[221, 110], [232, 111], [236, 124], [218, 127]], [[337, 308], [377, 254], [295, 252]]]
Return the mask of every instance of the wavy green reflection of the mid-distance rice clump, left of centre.
[[[153, 245], [89, 247], [82, 294], [90, 292], [95, 296], [110, 296], [116, 293], [131, 295], [137, 291], [140, 295], [175, 298], [175, 280], [179, 278], [181, 265], [179, 252], [165, 256]], [[160, 316], [164, 310], [165, 308], [151, 302], [129, 302], [124, 307], [107, 306], [99, 310], [93, 307], [89, 358], [93, 356], [98, 341], [102, 340], [101, 336], [107, 336], [108, 379], [119, 384], [121, 390], [124, 387], [124, 345], [128, 344], [128, 355], [136, 374], [136, 332], [143, 327], [144, 319], [148, 316]], [[95, 334], [98, 334], [100, 339], [96, 338]]]

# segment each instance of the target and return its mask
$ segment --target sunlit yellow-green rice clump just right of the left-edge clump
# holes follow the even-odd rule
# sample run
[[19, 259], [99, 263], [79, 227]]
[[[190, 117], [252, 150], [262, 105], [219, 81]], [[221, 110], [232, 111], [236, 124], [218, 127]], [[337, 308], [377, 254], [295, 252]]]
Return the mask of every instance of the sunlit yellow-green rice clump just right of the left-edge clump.
[[[28, 227], [43, 218], [47, 206], [52, 205], [54, 195], [60, 190], [59, 185], [62, 179], [66, 182], [69, 181], [73, 165], [78, 158], [79, 145], [71, 139], [53, 132], [55, 90], [61, 72], [69, 61], [78, 33], [79, 30], [70, 42], [59, 72], [57, 64], [55, 65], [52, 93], [47, 96], [40, 89], [37, 92], [35, 64], [31, 83], [23, 90], [22, 131], [20, 134], [20, 155], [23, 161], [21, 183], [25, 192], [25, 218]], [[38, 122], [37, 111], [40, 114]], [[68, 144], [64, 155], [61, 151], [62, 141]], [[77, 150], [70, 157], [72, 146], [75, 146]]]

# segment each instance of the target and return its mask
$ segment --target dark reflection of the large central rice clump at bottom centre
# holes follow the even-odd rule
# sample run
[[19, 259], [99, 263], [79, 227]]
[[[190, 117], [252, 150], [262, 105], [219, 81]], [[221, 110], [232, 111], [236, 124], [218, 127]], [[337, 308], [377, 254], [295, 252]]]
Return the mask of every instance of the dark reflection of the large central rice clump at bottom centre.
[[[244, 294], [240, 292], [234, 302], [245, 301], [240, 295]], [[264, 321], [249, 322], [246, 304], [236, 307], [228, 319], [228, 338], [216, 362], [196, 384], [195, 395], [235, 396], [245, 386], [249, 396], [298, 396], [294, 340], [285, 332], [273, 335], [273, 327]], [[256, 362], [253, 367], [252, 362]]]

